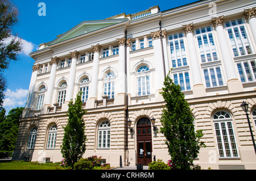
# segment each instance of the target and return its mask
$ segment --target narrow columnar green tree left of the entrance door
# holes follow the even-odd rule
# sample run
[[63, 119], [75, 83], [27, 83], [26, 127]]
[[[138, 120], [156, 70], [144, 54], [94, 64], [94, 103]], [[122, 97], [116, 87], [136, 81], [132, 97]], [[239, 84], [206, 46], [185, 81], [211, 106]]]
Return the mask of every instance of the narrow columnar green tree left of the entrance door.
[[75, 103], [71, 99], [68, 104], [68, 123], [64, 127], [63, 144], [61, 145], [61, 153], [67, 161], [67, 165], [73, 165], [82, 158], [86, 145], [85, 123], [82, 117], [86, 113], [82, 109], [81, 92], [77, 94]]

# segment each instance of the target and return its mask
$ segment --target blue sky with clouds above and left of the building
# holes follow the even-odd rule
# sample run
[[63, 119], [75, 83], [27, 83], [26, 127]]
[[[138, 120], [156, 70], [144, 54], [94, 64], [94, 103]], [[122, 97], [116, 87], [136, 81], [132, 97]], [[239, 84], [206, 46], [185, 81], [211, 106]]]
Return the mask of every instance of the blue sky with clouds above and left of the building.
[[[27, 91], [30, 85], [34, 59], [28, 54], [38, 49], [41, 43], [56, 39], [84, 20], [99, 20], [125, 12], [133, 14], [149, 7], [159, 5], [160, 11], [187, 5], [195, 0], [183, 1], [59, 1], [59, 0], [13, 0], [19, 10], [19, 22], [13, 28], [13, 35], [23, 42], [23, 52], [18, 60], [11, 62], [4, 75], [7, 91], [3, 106], [9, 112], [17, 106], [25, 106]], [[38, 4], [46, 4], [46, 16], [39, 16]]]

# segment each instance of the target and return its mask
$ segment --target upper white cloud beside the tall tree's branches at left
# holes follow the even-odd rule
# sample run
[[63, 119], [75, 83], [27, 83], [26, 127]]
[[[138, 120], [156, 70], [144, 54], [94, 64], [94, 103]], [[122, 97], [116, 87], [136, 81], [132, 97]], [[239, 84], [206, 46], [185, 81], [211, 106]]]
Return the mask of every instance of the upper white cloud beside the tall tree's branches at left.
[[29, 56], [29, 54], [30, 54], [34, 49], [38, 49], [38, 46], [35, 45], [34, 43], [31, 43], [30, 41], [21, 39], [20, 37], [17, 37], [17, 36], [14, 36], [14, 35], [11, 35], [11, 36], [8, 37], [7, 39], [3, 40], [3, 43], [4, 43], [4, 44], [9, 44], [9, 43], [11, 42], [11, 40], [13, 40], [14, 38], [15, 38], [16, 40], [20, 40], [20, 44], [21, 44], [21, 47], [22, 47], [22, 50], [21, 50], [20, 53], [24, 53], [24, 54], [26, 54], [26, 56]]

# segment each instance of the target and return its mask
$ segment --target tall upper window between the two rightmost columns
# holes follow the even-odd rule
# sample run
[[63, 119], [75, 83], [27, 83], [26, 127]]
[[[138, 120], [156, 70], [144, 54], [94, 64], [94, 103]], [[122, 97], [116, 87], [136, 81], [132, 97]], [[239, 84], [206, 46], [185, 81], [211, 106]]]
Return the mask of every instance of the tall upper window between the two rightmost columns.
[[249, 36], [242, 18], [227, 20], [225, 23], [234, 57], [251, 54]]

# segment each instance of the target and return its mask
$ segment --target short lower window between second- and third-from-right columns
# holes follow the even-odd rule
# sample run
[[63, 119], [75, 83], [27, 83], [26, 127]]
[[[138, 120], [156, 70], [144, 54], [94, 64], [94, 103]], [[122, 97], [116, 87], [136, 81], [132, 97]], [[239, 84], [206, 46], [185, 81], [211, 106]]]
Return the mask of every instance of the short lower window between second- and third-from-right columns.
[[221, 73], [221, 66], [212, 66], [204, 68], [205, 85], [207, 87], [223, 86], [223, 78]]

